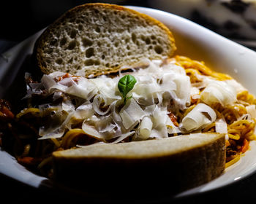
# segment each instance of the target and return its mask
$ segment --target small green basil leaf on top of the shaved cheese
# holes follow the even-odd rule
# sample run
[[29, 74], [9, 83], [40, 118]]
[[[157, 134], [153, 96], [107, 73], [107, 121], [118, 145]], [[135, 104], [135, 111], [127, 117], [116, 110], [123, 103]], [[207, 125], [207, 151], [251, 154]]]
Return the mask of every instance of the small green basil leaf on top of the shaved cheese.
[[127, 98], [127, 93], [129, 93], [129, 91], [133, 89], [136, 82], [137, 81], [135, 79], [135, 76], [129, 74], [119, 79], [118, 90], [120, 91], [121, 95], [123, 95], [124, 104], [127, 102], [127, 99], [132, 98], [132, 95]]

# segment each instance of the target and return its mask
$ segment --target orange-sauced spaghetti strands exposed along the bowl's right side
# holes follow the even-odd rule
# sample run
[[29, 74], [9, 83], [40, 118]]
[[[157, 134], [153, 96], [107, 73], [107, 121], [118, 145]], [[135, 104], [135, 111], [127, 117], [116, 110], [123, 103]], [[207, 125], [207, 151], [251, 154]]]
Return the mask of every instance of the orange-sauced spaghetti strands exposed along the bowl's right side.
[[[195, 60], [191, 60], [186, 57], [176, 56], [177, 63], [186, 69], [187, 74], [190, 76], [192, 83], [199, 82], [198, 74], [211, 76], [217, 80], [232, 79], [226, 74], [220, 74], [211, 71], [204, 63], [200, 63]], [[233, 105], [220, 106], [220, 104], [214, 104], [213, 109], [217, 112], [219, 119], [224, 118], [227, 122], [227, 157], [226, 167], [232, 165], [240, 159], [241, 153], [246, 152], [249, 149], [249, 142], [255, 140], [255, 118], [250, 118], [246, 107], [253, 106], [255, 109], [256, 100], [255, 97], [247, 90], [242, 90], [237, 94], [238, 101]], [[197, 101], [199, 103], [200, 100]], [[189, 109], [187, 109], [189, 110]], [[208, 125], [203, 129], [203, 132], [215, 132], [215, 123]]]

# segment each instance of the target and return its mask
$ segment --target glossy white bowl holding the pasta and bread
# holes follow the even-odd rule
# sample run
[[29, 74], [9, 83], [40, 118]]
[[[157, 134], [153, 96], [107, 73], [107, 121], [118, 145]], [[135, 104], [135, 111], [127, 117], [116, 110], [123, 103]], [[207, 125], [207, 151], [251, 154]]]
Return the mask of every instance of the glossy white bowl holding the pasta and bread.
[[[178, 47], [176, 54], [205, 61], [206, 65], [213, 68], [215, 71], [222, 71], [233, 76], [251, 93], [256, 95], [256, 52], [236, 44], [235, 42], [231, 42], [182, 17], [156, 9], [143, 7], [129, 8], [151, 15], [151, 17], [155, 17], [162, 21], [162, 23], [165, 23], [165, 25], [173, 31], [173, 35], [176, 39], [176, 45]], [[0, 98], [3, 97], [4, 90], [7, 90], [7, 86], [12, 83], [15, 74], [17, 74], [20, 68], [20, 64], [27, 55], [31, 54], [34, 42], [40, 33], [41, 32], [21, 42], [4, 53], [3, 58], [0, 58]], [[207, 192], [212, 189], [224, 187], [227, 184], [232, 184], [241, 178], [249, 176], [256, 170], [255, 155], [256, 142], [253, 141], [251, 148], [246, 152], [244, 157], [235, 165], [227, 168], [222, 176], [219, 176], [219, 178], [203, 186], [181, 192], [181, 194], [176, 195], [176, 197]], [[25, 184], [29, 184], [32, 187], [42, 187], [45, 186], [45, 184], [50, 186], [48, 178], [37, 176], [29, 170], [26, 170], [26, 168], [19, 165], [7, 152], [0, 151], [0, 158], [0, 173]]]

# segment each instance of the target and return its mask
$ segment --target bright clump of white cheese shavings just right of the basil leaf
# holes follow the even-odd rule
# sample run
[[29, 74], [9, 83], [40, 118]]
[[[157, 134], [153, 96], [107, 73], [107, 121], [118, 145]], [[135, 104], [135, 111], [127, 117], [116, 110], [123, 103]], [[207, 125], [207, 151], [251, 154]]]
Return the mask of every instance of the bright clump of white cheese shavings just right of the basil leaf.
[[189, 106], [190, 79], [181, 66], [176, 66], [173, 62], [159, 66], [159, 63], [153, 62], [148, 68], [140, 69], [133, 75], [137, 83], [132, 93], [141, 105], [150, 106], [156, 99], [159, 103], [165, 99], [169, 101], [173, 99], [176, 106], [181, 109]]

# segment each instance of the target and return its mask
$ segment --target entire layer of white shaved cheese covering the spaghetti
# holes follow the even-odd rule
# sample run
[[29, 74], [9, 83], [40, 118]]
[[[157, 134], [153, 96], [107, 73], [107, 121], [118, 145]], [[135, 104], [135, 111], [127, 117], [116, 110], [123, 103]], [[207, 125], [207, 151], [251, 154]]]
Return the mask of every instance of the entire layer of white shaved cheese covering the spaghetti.
[[[60, 71], [43, 75], [41, 83], [30, 83], [27, 95], [52, 97], [53, 103], [39, 105], [40, 117], [45, 117], [39, 129], [39, 139], [61, 138], [72, 127], [80, 127], [87, 136], [99, 141], [118, 143], [129, 136], [134, 140], [166, 138], [170, 134], [190, 133], [215, 122], [217, 133], [227, 133], [225, 119], [217, 119], [211, 105], [227, 106], [236, 102], [236, 94], [244, 90], [235, 80], [217, 81], [197, 74], [198, 82], [191, 85], [189, 76], [176, 60], [146, 60], [148, 67], [132, 68], [129, 73], [136, 83], [123, 95], [118, 81], [124, 74], [86, 79]], [[125, 73], [127, 74], [127, 73]], [[26, 78], [29, 81], [29, 74]], [[180, 122], [170, 119], [170, 111], [178, 114], [193, 100], [200, 99]], [[58, 101], [61, 101], [59, 104]], [[195, 101], [193, 101], [195, 102]], [[255, 105], [245, 106], [247, 113], [238, 119], [255, 118]], [[175, 125], [173, 124], [175, 123]], [[82, 127], [81, 127], [82, 126]]]

